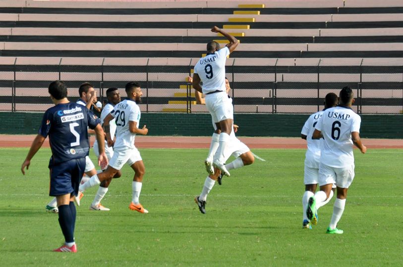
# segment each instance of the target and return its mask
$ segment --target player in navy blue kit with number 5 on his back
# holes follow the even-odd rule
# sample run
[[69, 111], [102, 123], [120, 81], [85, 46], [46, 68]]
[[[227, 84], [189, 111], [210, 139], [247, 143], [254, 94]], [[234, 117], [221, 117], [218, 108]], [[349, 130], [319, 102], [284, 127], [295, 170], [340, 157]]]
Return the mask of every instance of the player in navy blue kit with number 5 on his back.
[[52, 149], [49, 162], [50, 196], [56, 196], [59, 210], [59, 224], [64, 235], [65, 244], [55, 252], [77, 252], [74, 242], [76, 209], [74, 196], [84, 174], [85, 157], [89, 152], [87, 127], [95, 130], [99, 143], [98, 164], [106, 166], [108, 159], [104, 147], [104, 131], [100, 120], [85, 106], [67, 99], [67, 87], [61, 81], [49, 85], [49, 93], [55, 106], [49, 108], [42, 119], [39, 134], [32, 142], [21, 172], [29, 168], [31, 159], [41, 148], [46, 137]]

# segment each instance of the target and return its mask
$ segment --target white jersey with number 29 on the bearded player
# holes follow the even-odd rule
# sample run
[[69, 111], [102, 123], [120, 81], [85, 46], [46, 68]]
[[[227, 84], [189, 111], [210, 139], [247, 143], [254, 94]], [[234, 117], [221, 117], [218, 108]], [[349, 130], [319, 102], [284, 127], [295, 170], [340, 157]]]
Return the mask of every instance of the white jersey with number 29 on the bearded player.
[[116, 141], [114, 148], [126, 146], [134, 148], [134, 139], [136, 134], [130, 133], [129, 121], [140, 123], [140, 108], [132, 99], [125, 99], [115, 105], [111, 115], [115, 118]]

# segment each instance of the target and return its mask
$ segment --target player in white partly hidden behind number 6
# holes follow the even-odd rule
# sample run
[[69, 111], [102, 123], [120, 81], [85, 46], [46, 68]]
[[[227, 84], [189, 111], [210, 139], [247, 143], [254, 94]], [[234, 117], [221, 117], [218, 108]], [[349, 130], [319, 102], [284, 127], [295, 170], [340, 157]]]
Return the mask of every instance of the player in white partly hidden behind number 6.
[[[308, 199], [312, 197], [315, 193], [317, 184], [319, 182], [320, 150], [323, 143], [322, 138], [312, 139], [312, 134], [323, 112], [328, 108], [337, 106], [338, 101], [339, 99], [335, 93], [328, 93], [325, 97], [325, 109], [309, 116], [301, 131], [301, 138], [306, 140], [306, 145], [308, 147], [305, 153], [304, 167], [305, 193], [302, 196], [302, 228], [305, 229], [312, 229], [310, 223], [317, 223], [317, 217], [314, 217], [314, 220], [312, 220], [312, 222], [309, 222], [308, 218], [306, 217], [306, 209], [308, 208]], [[323, 202], [323, 205], [330, 201], [330, 199], [333, 197], [333, 193], [334, 192], [332, 190], [326, 202]]]

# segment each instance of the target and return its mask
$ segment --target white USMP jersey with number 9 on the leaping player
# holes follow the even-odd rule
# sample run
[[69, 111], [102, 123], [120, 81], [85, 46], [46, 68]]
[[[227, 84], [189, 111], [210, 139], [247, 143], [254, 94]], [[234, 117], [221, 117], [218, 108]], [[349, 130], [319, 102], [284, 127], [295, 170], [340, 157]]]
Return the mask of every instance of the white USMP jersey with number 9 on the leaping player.
[[202, 91], [204, 94], [216, 90], [226, 91], [225, 63], [229, 54], [230, 49], [225, 46], [214, 54], [200, 58], [194, 66], [194, 73], [199, 75], [203, 82]]

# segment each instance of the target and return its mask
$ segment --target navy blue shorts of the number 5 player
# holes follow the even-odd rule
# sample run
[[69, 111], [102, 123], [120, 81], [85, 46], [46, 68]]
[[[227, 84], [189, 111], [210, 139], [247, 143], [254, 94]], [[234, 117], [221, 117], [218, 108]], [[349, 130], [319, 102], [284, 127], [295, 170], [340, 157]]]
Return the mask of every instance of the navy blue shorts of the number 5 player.
[[78, 186], [85, 170], [85, 158], [72, 159], [57, 165], [53, 165], [51, 159], [49, 169], [51, 170], [50, 196], [78, 194]]

